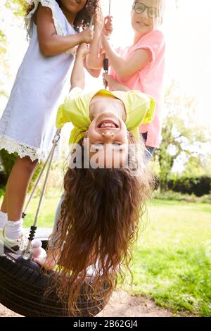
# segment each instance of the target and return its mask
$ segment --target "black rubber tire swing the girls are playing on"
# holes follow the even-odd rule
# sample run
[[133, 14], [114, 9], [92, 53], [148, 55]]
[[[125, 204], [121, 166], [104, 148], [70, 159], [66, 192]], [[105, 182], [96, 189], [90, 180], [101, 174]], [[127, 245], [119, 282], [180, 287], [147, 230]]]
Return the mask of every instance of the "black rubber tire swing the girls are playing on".
[[[18, 254], [7, 251], [0, 256], [0, 302], [7, 308], [27, 317], [71, 316], [66, 303], [58, 298], [56, 291], [44, 296], [52, 284], [54, 271], [44, 272], [37, 263], [25, 261]], [[79, 311], [76, 316], [96, 316], [106, 306], [103, 298], [106, 286], [97, 298], [85, 297], [85, 287], [80, 290]]]

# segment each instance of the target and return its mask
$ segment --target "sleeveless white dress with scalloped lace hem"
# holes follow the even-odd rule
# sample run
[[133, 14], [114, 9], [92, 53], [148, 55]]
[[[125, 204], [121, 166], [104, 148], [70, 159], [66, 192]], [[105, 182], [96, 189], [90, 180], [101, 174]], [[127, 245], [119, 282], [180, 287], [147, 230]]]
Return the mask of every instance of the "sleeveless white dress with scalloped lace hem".
[[70, 89], [71, 51], [57, 56], [44, 56], [39, 49], [37, 27], [32, 15], [39, 2], [51, 8], [56, 33], [72, 35], [56, 0], [34, 0], [34, 9], [26, 22], [30, 44], [18, 70], [6, 109], [0, 119], [0, 149], [17, 152], [20, 157], [45, 161], [56, 132], [58, 106]]

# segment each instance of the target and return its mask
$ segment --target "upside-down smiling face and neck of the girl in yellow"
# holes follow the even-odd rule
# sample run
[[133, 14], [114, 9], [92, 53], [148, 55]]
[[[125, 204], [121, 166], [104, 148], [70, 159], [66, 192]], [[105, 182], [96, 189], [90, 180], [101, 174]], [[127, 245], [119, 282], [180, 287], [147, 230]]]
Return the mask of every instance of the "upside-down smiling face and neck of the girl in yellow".
[[96, 117], [84, 137], [89, 158], [100, 168], [120, 168], [127, 161], [129, 132], [122, 119], [124, 104], [110, 96], [95, 96], [91, 100], [90, 113]]

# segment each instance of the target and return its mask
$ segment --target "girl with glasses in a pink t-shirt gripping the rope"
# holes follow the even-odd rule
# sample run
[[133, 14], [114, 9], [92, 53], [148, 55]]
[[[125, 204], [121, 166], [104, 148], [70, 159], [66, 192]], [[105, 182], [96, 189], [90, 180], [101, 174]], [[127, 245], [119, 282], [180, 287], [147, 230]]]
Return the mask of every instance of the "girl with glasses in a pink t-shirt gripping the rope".
[[[106, 52], [110, 63], [110, 75], [103, 74], [110, 89], [138, 89], [151, 94], [156, 101], [155, 117], [150, 124], [143, 124], [139, 130], [146, 142], [149, 159], [160, 144], [162, 82], [164, 76], [165, 39], [158, 27], [162, 24], [165, 0], [135, 0], [132, 6], [132, 28], [134, 43], [126, 48], [113, 50], [108, 40], [112, 32], [112, 18], [106, 17], [105, 25], [97, 22], [95, 37], [87, 57], [90, 68], [103, 67], [104, 54], [99, 53], [100, 46]], [[100, 71], [99, 71], [100, 73]]]

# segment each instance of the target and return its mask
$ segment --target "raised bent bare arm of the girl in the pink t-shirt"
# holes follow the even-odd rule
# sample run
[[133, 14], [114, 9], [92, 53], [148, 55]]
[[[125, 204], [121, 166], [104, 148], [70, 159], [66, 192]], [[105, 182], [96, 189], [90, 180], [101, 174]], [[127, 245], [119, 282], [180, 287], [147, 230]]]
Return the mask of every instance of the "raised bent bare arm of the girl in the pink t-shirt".
[[124, 59], [113, 51], [106, 37], [102, 37], [101, 42], [110, 65], [113, 66], [115, 73], [117, 73], [121, 80], [127, 80], [151, 61], [151, 52], [147, 49], [137, 49], [130, 58]]

